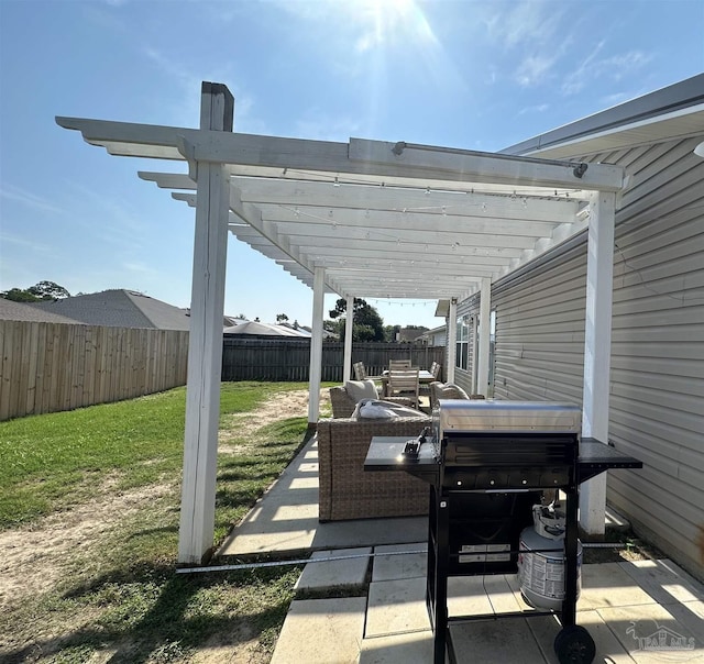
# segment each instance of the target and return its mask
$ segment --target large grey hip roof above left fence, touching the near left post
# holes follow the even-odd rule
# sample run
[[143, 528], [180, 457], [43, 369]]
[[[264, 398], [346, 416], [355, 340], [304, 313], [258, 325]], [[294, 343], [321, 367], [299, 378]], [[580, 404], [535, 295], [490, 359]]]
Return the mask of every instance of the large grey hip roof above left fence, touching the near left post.
[[30, 306], [89, 325], [157, 330], [188, 330], [190, 327], [187, 309], [132, 290], [103, 290], [51, 302], [32, 302]]

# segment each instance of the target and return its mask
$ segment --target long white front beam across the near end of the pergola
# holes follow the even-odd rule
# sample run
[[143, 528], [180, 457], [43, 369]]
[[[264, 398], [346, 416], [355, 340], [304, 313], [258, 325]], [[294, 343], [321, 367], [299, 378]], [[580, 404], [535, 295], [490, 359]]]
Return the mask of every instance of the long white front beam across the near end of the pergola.
[[[79, 130], [92, 145], [110, 154], [216, 164], [319, 170], [331, 174], [389, 176], [491, 182], [520, 187], [540, 185], [571, 189], [618, 191], [623, 169], [604, 164], [580, 165], [515, 157], [494, 153], [448, 150], [426, 145], [350, 139], [348, 143], [284, 139], [255, 134], [132, 124], [103, 120], [57, 118], [65, 128]], [[188, 145], [188, 154], [184, 154]], [[180, 153], [180, 157], [177, 156]], [[581, 173], [581, 175], [578, 175]]]

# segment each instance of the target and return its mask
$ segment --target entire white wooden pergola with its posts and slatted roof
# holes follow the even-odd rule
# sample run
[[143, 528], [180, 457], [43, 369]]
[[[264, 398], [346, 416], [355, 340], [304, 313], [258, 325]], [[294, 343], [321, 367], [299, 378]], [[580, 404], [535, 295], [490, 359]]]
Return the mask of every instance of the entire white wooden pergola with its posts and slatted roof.
[[[588, 229], [582, 434], [607, 440], [616, 192], [620, 167], [351, 139], [234, 133], [226, 86], [202, 84], [199, 129], [57, 118], [110, 154], [187, 162], [188, 175], [140, 173], [196, 209], [178, 558], [212, 546], [222, 313], [230, 231], [310, 286], [308, 419], [318, 420], [323, 296], [449, 299], [481, 294], [479, 385], [488, 379], [494, 281]], [[248, 285], [249, 286], [249, 285]], [[251, 287], [251, 286], [250, 286]], [[345, 378], [352, 353], [346, 325]], [[603, 532], [605, 475], [581, 491], [581, 523]]]

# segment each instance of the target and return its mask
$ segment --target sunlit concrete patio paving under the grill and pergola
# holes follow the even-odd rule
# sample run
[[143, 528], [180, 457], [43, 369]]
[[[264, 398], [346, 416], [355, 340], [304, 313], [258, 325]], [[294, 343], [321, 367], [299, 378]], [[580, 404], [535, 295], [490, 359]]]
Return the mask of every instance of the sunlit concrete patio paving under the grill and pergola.
[[[431, 662], [426, 519], [319, 523], [317, 493], [312, 439], [217, 553], [221, 563], [311, 551], [331, 558], [306, 565], [272, 664]], [[529, 616], [515, 575], [455, 577], [449, 594], [451, 616], [528, 611], [454, 624], [460, 664], [558, 661], [560, 626]], [[704, 586], [669, 560], [583, 565], [578, 624], [596, 642], [595, 662], [704, 662]]]

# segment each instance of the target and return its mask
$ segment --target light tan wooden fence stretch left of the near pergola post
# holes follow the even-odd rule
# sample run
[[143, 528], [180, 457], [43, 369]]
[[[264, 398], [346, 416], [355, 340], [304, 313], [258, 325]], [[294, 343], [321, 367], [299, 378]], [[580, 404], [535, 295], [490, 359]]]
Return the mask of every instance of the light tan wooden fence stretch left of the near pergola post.
[[186, 384], [188, 332], [0, 320], [0, 420]]

